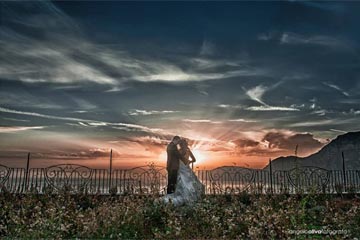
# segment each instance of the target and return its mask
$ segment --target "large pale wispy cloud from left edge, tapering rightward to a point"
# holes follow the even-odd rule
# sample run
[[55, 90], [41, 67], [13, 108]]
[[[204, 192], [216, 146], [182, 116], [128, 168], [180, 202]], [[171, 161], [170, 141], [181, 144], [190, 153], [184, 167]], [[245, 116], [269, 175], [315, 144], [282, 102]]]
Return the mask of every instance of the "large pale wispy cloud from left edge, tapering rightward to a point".
[[29, 39], [26, 44], [20, 39], [4, 42], [1, 49], [7, 58], [0, 64], [0, 73], [8, 79], [28, 83], [71, 85], [93, 82], [109, 85], [108, 92], [126, 89], [124, 84], [131, 80], [183, 82], [265, 74], [264, 70], [244, 66], [233, 70], [189, 71], [175, 62], [141, 60], [126, 51], [110, 49], [87, 39], [69, 39], [66, 35], [59, 38], [58, 44], [53, 43], [56, 40], [40, 44], [36, 39]]

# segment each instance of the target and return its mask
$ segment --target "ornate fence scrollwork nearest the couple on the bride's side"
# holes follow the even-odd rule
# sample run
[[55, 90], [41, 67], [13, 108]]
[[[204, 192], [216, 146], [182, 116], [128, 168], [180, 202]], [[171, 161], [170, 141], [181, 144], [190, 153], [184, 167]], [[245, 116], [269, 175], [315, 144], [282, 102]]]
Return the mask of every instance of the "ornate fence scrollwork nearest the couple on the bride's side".
[[242, 167], [219, 167], [210, 171], [211, 194], [234, 194], [250, 188], [255, 179], [255, 171]]

